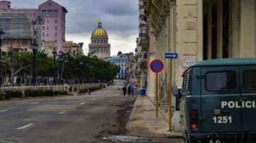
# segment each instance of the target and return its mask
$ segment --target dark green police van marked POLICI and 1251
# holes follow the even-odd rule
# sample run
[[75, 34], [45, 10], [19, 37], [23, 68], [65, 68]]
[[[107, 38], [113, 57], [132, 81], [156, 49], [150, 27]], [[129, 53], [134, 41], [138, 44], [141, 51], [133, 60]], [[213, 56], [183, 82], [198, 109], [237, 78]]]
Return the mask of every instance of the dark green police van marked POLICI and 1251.
[[256, 142], [256, 59], [197, 62], [181, 93], [185, 142]]

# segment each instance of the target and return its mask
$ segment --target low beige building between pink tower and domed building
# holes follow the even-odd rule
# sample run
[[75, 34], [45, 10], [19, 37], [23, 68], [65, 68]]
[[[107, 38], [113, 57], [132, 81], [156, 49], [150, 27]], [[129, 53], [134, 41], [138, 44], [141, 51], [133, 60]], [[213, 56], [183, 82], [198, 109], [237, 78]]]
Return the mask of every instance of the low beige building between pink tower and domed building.
[[74, 43], [73, 41], [66, 41], [65, 42], [65, 53], [72, 53], [75, 55], [84, 55], [83, 51], [84, 43], [79, 42], [78, 44]]

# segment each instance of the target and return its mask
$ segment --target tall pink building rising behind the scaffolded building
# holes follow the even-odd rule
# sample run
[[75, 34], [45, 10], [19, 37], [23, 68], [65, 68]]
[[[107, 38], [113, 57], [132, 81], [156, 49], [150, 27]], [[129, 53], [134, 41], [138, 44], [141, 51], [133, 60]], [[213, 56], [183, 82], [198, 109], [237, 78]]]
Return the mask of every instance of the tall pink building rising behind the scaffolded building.
[[56, 41], [57, 52], [65, 51], [65, 23], [68, 11], [62, 5], [52, 0], [48, 0], [38, 5], [38, 8], [10, 8], [11, 2], [0, 1], [1, 13], [21, 13], [27, 14], [33, 21], [43, 18], [40, 25], [40, 39], [43, 41]]

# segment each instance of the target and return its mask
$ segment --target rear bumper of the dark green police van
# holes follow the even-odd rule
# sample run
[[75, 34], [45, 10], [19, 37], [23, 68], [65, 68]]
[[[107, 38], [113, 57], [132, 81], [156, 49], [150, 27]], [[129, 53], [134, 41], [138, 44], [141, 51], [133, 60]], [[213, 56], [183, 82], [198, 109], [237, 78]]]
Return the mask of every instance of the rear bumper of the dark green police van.
[[243, 141], [256, 142], [256, 131], [236, 133], [204, 133], [190, 134], [190, 141], [219, 140], [219, 141]]

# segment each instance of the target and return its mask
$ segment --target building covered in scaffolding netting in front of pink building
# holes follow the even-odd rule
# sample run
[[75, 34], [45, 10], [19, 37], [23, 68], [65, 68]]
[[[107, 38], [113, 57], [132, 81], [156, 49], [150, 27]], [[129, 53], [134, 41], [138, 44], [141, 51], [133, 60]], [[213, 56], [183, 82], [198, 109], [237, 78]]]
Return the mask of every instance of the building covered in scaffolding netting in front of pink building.
[[34, 24], [28, 14], [0, 13], [0, 25], [5, 32], [1, 47], [17, 52], [32, 52]]

